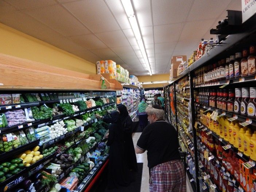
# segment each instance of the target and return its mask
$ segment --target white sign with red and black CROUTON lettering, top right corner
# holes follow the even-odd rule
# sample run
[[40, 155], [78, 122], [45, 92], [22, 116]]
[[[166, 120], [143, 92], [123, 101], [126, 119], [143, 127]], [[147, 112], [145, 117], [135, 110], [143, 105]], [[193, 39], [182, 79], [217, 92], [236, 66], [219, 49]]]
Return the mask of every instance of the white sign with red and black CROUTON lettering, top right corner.
[[243, 23], [256, 13], [256, 0], [241, 0]]

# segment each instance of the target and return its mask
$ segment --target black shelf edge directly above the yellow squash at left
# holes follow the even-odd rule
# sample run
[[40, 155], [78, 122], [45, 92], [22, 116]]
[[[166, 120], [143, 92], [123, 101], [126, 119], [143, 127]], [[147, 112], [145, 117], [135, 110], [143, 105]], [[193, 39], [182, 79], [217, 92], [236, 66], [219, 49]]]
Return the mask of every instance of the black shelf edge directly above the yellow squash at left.
[[16, 149], [12, 149], [8, 152], [5, 152], [5, 153], [1, 153], [0, 155], [0, 161], [3, 161], [9, 157], [13, 157], [17, 154], [20, 154], [21, 152], [27, 150], [27, 149], [31, 149], [32, 147], [36, 146], [39, 144], [39, 141], [40, 139], [38, 140], [35, 140], [35, 141], [32, 141], [32, 142], [29, 142], [28, 144], [25, 144], [25, 145], [22, 145], [22, 146], [19, 146], [18, 148]]

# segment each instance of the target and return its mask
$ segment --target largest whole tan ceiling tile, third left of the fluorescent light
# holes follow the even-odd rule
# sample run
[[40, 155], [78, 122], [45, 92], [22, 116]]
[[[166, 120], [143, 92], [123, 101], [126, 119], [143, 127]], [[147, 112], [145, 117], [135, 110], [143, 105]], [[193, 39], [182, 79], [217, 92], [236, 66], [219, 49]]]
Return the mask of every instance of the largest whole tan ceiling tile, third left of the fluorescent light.
[[77, 36], [90, 34], [77, 19], [75, 19], [61, 5], [53, 5], [35, 10], [24, 10], [25, 13], [34, 17], [38, 21], [46, 24], [50, 28], [58, 31], [64, 36]]

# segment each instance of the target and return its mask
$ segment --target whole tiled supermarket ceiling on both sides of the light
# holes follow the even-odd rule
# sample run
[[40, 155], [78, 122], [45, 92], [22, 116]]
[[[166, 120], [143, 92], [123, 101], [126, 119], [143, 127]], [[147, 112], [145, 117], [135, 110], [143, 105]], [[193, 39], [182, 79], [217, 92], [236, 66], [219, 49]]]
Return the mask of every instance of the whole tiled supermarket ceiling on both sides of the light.
[[[132, 0], [152, 74], [169, 73], [241, 0]], [[148, 75], [121, 0], [0, 0], [0, 22], [92, 63], [111, 59]]]

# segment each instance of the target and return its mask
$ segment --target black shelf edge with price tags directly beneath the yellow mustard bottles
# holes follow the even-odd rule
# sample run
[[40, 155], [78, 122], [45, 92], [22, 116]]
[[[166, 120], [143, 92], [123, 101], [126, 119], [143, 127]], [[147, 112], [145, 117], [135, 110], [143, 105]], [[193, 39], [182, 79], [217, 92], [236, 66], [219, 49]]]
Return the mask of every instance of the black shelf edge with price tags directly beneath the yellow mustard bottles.
[[[205, 125], [202, 125], [201, 122], [198, 122], [198, 125], [200, 125], [201, 129], [207, 131], [207, 133], [210, 133], [214, 138], [216, 138], [217, 140], [219, 140], [222, 144], [224, 144], [224, 146], [226, 145], [230, 145], [230, 149], [236, 153], [238, 156], [240, 156], [240, 158], [245, 161], [248, 162], [250, 160], [249, 157], [247, 157], [243, 152], [238, 151], [237, 148], [235, 148], [232, 144], [230, 144], [228, 141], [225, 141], [223, 138], [221, 138], [220, 136], [218, 136], [216, 133], [212, 132], [209, 128], [207, 128]], [[255, 166], [256, 168], [256, 166]]]

